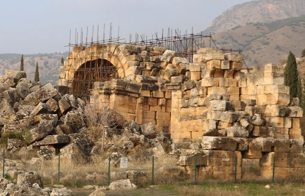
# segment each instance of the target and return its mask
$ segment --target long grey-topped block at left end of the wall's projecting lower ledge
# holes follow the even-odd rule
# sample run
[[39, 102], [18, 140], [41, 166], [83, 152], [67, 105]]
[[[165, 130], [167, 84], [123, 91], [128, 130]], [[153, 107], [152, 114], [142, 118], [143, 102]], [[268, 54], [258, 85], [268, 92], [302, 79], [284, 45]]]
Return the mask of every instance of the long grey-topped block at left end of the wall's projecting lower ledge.
[[204, 150], [235, 151], [237, 149], [237, 142], [229, 137], [203, 136], [199, 139]]

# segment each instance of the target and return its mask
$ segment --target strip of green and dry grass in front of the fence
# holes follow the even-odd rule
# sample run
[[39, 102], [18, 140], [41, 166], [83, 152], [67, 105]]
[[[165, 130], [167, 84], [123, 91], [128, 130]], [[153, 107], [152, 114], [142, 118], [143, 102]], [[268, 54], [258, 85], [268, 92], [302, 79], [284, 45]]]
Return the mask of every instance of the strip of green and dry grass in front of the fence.
[[[160, 185], [154, 187], [139, 188], [127, 191], [104, 191], [106, 195], [305, 195], [304, 184], [269, 184], [270, 189], [265, 188], [266, 183], [243, 184], [205, 184], [205, 185]], [[237, 186], [237, 187], [236, 187]], [[304, 191], [304, 192], [303, 192]], [[77, 195], [89, 195], [93, 191], [75, 188]]]

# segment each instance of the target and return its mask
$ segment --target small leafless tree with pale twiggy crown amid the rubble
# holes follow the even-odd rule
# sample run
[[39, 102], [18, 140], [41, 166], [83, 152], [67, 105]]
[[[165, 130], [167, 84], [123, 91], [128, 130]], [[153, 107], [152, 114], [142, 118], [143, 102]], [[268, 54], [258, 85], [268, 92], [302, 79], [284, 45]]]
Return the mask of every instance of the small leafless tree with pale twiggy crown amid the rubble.
[[97, 102], [96, 100], [98, 99], [94, 99], [94, 103], [86, 101], [84, 114], [89, 128], [95, 127], [102, 131], [102, 150], [104, 150], [105, 132], [124, 124], [124, 118], [110, 107], [109, 102]]

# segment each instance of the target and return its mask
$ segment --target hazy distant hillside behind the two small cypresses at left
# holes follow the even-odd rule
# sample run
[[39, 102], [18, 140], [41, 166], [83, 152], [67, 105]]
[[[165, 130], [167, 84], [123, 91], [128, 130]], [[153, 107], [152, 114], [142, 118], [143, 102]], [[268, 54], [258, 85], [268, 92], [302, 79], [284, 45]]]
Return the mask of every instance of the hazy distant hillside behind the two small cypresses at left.
[[[24, 55], [24, 71], [27, 73], [27, 78], [34, 80], [36, 61], [39, 65], [40, 81], [56, 85], [59, 78], [60, 61], [63, 57], [66, 60], [68, 52], [63, 54], [48, 53], [48, 54], [25, 54]], [[6, 69], [20, 69], [21, 54], [0, 54], [0, 75], [5, 75]]]

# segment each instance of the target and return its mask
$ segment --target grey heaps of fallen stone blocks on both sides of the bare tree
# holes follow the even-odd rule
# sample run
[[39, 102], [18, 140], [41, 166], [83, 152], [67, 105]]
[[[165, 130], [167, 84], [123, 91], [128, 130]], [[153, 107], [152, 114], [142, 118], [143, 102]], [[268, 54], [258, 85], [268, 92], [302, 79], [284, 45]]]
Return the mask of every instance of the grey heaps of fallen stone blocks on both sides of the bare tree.
[[[44, 160], [52, 159], [56, 149], [70, 159], [90, 159], [99, 154], [99, 148], [87, 135], [83, 100], [62, 95], [50, 83], [30, 82], [25, 72], [6, 70], [5, 73], [0, 78], [2, 146], [10, 151], [25, 145], [22, 148], [25, 151], [38, 148], [38, 157]], [[161, 145], [164, 136], [157, 134], [151, 123], [140, 127], [131, 121], [117, 134], [118, 145], [109, 143], [105, 147], [110, 153], [126, 154], [139, 144], [153, 148], [158, 154], [165, 153]]]

